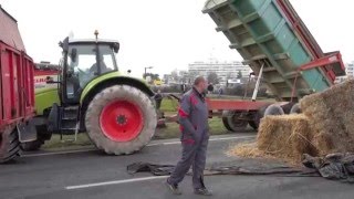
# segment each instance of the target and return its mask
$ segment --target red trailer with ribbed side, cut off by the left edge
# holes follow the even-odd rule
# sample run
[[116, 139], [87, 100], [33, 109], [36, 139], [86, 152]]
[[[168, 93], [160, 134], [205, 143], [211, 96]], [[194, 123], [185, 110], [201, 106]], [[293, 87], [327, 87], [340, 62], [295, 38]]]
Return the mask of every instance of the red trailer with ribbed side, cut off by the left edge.
[[37, 139], [34, 64], [27, 55], [17, 21], [0, 7], [0, 163], [20, 153], [20, 143]]

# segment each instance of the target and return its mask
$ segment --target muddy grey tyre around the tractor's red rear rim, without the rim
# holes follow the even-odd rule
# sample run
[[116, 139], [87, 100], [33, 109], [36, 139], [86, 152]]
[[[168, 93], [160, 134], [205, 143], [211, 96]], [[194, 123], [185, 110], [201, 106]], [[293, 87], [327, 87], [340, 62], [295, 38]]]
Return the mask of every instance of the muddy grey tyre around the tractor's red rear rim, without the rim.
[[[105, 104], [116, 98], [134, 102], [140, 107], [144, 115], [142, 133], [131, 142], [113, 142], [101, 129], [101, 112]], [[98, 149], [112, 155], [131, 155], [140, 150], [150, 142], [157, 126], [157, 115], [154, 103], [143, 91], [129, 85], [114, 85], [104, 88], [92, 100], [85, 115], [85, 126], [90, 139]]]

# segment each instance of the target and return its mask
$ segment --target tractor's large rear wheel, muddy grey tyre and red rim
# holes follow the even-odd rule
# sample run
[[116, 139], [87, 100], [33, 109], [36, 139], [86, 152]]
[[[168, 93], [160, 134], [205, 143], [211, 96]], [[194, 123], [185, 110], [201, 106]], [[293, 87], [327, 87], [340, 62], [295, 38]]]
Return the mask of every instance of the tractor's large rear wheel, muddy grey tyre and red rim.
[[106, 154], [140, 150], [155, 134], [156, 109], [140, 90], [115, 85], [96, 94], [88, 105], [85, 126], [92, 142]]

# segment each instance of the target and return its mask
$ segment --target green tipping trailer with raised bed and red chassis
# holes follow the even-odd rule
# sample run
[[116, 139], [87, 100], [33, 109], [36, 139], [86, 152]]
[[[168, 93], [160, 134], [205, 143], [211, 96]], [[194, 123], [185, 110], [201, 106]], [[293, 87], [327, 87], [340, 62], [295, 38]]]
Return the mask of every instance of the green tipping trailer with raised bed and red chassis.
[[210, 111], [225, 111], [222, 121], [230, 130], [248, 123], [258, 128], [264, 114], [295, 111], [292, 106], [301, 97], [345, 75], [341, 53], [322, 51], [289, 0], [208, 0], [202, 12], [280, 102], [208, 100]]

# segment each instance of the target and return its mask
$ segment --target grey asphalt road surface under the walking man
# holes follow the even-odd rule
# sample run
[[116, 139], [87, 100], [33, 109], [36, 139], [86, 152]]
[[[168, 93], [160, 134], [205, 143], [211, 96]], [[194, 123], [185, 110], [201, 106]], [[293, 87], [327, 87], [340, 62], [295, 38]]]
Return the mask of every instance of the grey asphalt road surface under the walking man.
[[[227, 157], [230, 145], [253, 139], [254, 134], [212, 137], [208, 166], [241, 165], [244, 167], [271, 161]], [[126, 166], [136, 161], [176, 164], [180, 151], [178, 140], [158, 140], [133, 156], [106, 156], [100, 151], [31, 154], [19, 160], [0, 165], [0, 198], [119, 198], [171, 199], [202, 198], [192, 193], [190, 177], [181, 184], [183, 196], [171, 196], [163, 185], [165, 177], [148, 174], [131, 176]], [[278, 163], [277, 163], [278, 164]], [[210, 176], [206, 184], [212, 198], [347, 198], [354, 197], [351, 185], [316, 177], [275, 176]]]

